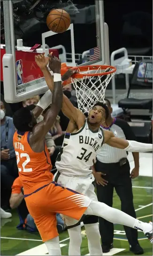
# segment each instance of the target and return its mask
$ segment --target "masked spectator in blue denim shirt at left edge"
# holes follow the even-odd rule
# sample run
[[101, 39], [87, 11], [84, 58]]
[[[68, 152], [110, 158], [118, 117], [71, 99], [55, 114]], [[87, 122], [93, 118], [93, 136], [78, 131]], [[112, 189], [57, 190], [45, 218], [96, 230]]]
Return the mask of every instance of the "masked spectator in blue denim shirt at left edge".
[[0, 101], [0, 174], [1, 187], [11, 192], [11, 186], [18, 176], [13, 136], [13, 119], [6, 116], [4, 103]]

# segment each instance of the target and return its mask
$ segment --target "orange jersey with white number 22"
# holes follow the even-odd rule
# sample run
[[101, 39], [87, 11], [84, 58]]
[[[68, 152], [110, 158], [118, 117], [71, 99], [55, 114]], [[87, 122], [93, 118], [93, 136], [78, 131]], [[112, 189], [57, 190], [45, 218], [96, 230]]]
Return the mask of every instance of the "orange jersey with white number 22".
[[50, 172], [52, 164], [45, 142], [44, 150], [37, 153], [31, 149], [29, 137], [30, 132], [19, 131], [15, 131], [13, 137], [19, 176], [26, 193], [30, 192], [31, 188], [37, 189], [53, 180]]

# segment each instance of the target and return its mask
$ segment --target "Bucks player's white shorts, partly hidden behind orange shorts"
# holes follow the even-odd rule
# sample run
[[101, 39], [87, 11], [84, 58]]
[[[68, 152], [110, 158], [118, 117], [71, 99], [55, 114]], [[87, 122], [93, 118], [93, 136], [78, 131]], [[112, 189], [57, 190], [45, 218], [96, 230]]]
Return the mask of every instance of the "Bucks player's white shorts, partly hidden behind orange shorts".
[[[94, 181], [94, 176], [92, 174], [87, 176], [66, 176], [62, 173], [56, 172], [54, 175], [54, 181], [63, 187], [75, 190], [76, 192], [89, 197], [91, 200], [98, 201], [97, 195], [94, 191], [94, 185], [92, 184]], [[62, 217], [68, 227], [78, 223], [77, 220], [68, 216]]]

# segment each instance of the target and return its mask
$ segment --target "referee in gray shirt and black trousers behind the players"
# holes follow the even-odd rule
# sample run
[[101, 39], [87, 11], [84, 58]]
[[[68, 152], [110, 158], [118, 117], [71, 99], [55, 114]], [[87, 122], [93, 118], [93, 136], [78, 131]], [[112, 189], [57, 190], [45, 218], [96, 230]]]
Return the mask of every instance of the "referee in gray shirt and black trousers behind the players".
[[[107, 119], [107, 127], [102, 128], [112, 131], [119, 138], [136, 140], [133, 131], [126, 121], [111, 117], [113, 110], [110, 101], [105, 99], [105, 102], [109, 109], [109, 117]], [[135, 168], [130, 174], [127, 152], [104, 144], [97, 155], [95, 179], [97, 181], [97, 197], [99, 202], [112, 207], [113, 191], [115, 188], [121, 200], [122, 211], [136, 218], [131, 178], [136, 178], [139, 174], [139, 153], [133, 152], [132, 154]], [[106, 175], [102, 176], [101, 172]], [[113, 248], [114, 225], [103, 218], [99, 218], [99, 230], [103, 253], [107, 253]], [[138, 231], [126, 226], [124, 226], [124, 230], [130, 244], [130, 251], [137, 255], [143, 254], [143, 248], [138, 243]]]

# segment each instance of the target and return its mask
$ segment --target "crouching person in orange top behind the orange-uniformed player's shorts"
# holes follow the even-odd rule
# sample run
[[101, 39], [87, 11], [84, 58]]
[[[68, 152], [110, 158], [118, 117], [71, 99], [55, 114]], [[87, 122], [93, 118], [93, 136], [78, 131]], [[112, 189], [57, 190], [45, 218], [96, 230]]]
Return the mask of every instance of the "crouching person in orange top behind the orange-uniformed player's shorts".
[[[20, 224], [18, 224], [17, 229], [38, 231], [32, 216], [28, 212], [23, 194], [23, 186], [20, 177], [17, 177], [12, 185], [12, 193], [10, 197], [10, 207], [12, 209], [18, 209]], [[65, 229], [65, 225], [60, 214], [56, 215], [56, 220], [57, 230], [58, 232], [62, 232]]]

